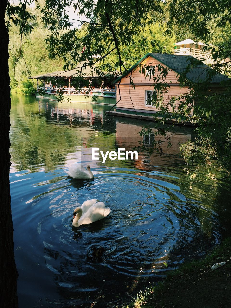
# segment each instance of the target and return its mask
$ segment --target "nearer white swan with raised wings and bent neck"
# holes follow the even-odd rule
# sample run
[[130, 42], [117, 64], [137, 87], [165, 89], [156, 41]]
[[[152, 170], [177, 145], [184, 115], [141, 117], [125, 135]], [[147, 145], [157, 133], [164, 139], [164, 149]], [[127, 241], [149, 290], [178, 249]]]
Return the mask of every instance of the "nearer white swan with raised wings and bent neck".
[[83, 202], [81, 207], [77, 207], [73, 213], [74, 227], [91, 224], [106, 217], [110, 212], [110, 208], [106, 208], [103, 202], [97, 202], [96, 199]]

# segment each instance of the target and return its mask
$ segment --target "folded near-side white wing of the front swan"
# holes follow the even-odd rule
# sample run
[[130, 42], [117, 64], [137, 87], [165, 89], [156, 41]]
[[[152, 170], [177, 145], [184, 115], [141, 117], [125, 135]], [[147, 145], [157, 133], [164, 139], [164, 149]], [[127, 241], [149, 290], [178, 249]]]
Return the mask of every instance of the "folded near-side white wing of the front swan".
[[91, 224], [92, 222], [98, 221], [105, 216], [107, 216], [111, 212], [110, 208], [105, 208], [105, 204], [103, 202], [97, 202], [90, 207], [90, 209], [81, 216], [78, 221], [79, 225]]

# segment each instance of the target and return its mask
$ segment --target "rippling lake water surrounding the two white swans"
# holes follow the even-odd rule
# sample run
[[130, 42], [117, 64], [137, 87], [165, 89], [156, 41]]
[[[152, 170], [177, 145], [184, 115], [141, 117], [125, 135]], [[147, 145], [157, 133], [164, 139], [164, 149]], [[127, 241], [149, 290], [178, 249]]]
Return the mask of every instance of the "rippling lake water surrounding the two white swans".
[[[12, 95], [10, 189], [20, 308], [115, 307], [230, 233], [229, 182], [198, 182], [189, 190], [177, 153], [192, 128], [176, 127], [172, 148], [164, 145], [162, 156], [92, 161], [92, 147], [131, 150], [143, 126], [155, 128], [154, 122], [109, 118], [109, 109]], [[64, 169], [79, 161], [90, 164], [94, 180], [67, 177]], [[110, 207], [110, 215], [72, 227], [76, 204], [93, 198]], [[100, 247], [101, 258], [92, 256]]]

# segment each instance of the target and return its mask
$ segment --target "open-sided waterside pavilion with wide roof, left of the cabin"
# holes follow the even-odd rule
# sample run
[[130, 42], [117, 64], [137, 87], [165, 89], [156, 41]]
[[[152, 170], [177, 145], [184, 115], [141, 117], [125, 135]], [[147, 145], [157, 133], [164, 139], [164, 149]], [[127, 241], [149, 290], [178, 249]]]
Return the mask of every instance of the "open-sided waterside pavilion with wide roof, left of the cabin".
[[37, 98], [57, 101], [62, 94], [63, 102], [94, 102], [106, 105], [114, 105], [116, 102], [116, 89], [112, 84], [114, 75], [108, 73], [99, 76], [90, 67], [83, 71], [76, 67], [30, 78], [36, 80], [34, 84], [37, 87]]

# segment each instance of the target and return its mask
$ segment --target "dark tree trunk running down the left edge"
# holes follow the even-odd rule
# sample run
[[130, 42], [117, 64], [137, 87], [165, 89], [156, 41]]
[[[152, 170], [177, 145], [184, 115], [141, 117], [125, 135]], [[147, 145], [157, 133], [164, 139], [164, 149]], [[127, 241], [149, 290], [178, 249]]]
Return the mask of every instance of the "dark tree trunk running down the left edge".
[[9, 35], [5, 26], [7, 0], [0, 5], [0, 307], [18, 307], [14, 260], [13, 223], [10, 208], [10, 77], [8, 67]]

